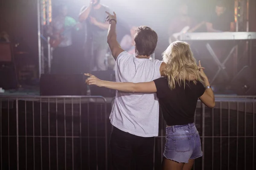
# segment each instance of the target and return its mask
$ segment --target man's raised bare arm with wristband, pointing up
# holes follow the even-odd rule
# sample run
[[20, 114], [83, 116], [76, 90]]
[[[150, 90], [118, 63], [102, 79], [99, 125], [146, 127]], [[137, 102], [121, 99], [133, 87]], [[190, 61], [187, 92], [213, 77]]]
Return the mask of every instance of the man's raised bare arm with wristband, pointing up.
[[110, 26], [108, 28], [108, 45], [111, 50], [111, 53], [116, 60], [120, 53], [122, 53], [124, 50], [120, 47], [119, 43], [116, 40], [116, 14], [114, 12], [114, 15], [111, 15], [110, 13], [106, 12], [108, 14], [108, 21], [110, 21]]

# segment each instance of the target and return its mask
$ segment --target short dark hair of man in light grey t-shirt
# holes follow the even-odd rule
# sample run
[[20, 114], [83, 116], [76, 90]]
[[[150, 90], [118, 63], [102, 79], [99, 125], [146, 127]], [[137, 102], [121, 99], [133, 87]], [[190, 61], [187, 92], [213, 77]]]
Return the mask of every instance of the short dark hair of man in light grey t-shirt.
[[147, 26], [140, 26], [135, 31], [134, 41], [137, 55], [150, 56], [157, 46], [157, 33]]

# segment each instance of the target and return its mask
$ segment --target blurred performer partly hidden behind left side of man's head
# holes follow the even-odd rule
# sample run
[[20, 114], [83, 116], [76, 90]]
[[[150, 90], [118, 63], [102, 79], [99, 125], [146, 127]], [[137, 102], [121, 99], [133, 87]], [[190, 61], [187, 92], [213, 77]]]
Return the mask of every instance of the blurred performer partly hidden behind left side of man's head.
[[131, 34], [126, 34], [120, 42], [122, 49], [127, 51], [129, 54], [133, 54], [133, 55], [136, 54], [135, 53], [135, 42], [134, 42], [134, 34], [135, 34], [136, 28], [137, 27], [135, 27], [135, 26], [131, 27], [131, 29], [130, 29]]

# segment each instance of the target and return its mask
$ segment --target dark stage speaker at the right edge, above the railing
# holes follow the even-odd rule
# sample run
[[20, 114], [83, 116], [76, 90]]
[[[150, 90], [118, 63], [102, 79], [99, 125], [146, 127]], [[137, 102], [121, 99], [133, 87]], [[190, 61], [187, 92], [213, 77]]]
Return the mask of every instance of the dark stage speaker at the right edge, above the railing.
[[231, 89], [238, 95], [255, 95], [256, 77], [253, 75], [253, 69], [244, 66], [232, 80]]

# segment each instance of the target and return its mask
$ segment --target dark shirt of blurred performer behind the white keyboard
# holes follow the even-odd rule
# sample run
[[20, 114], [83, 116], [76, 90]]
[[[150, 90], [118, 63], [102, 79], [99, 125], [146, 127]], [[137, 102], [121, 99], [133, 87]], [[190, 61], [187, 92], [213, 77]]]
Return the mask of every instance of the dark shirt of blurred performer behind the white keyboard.
[[235, 22], [234, 14], [230, 11], [225, 11], [224, 14], [218, 16], [216, 12], [209, 18], [209, 23], [212, 23], [212, 28], [219, 31], [230, 31], [230, 23]]

